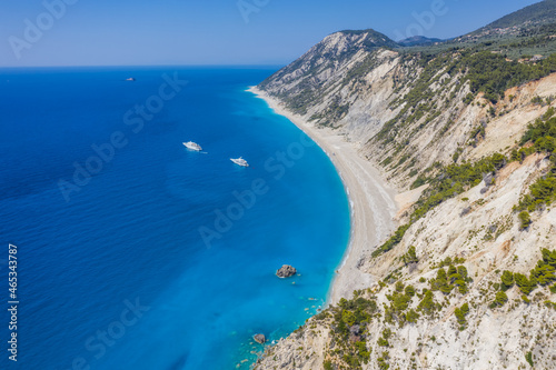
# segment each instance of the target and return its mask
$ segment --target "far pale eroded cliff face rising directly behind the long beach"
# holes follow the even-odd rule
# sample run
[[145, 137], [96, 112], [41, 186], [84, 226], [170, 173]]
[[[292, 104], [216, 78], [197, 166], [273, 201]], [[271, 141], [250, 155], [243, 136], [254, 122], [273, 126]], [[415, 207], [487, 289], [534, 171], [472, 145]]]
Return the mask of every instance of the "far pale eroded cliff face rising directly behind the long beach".
[[[417, 169], [448, 163], [456, 152], [463, 161], [515, 144], [526, 123], [546, 109], [532, 99], [555, 94], [550, 76], [506, 91], [497, 103], [480, 92], [465, 102], [470, 92], [465, 73], [447, 63], [426, 68], [414, 54], [361, 47], [368, 38], [334, 33], [260, 88], [306, 121], [345, 134], [399, 190], [417, 179]], [[459, 51], [448, 57], [458, 58]], [[487, 134], [473, 136], [480, 127]]]

